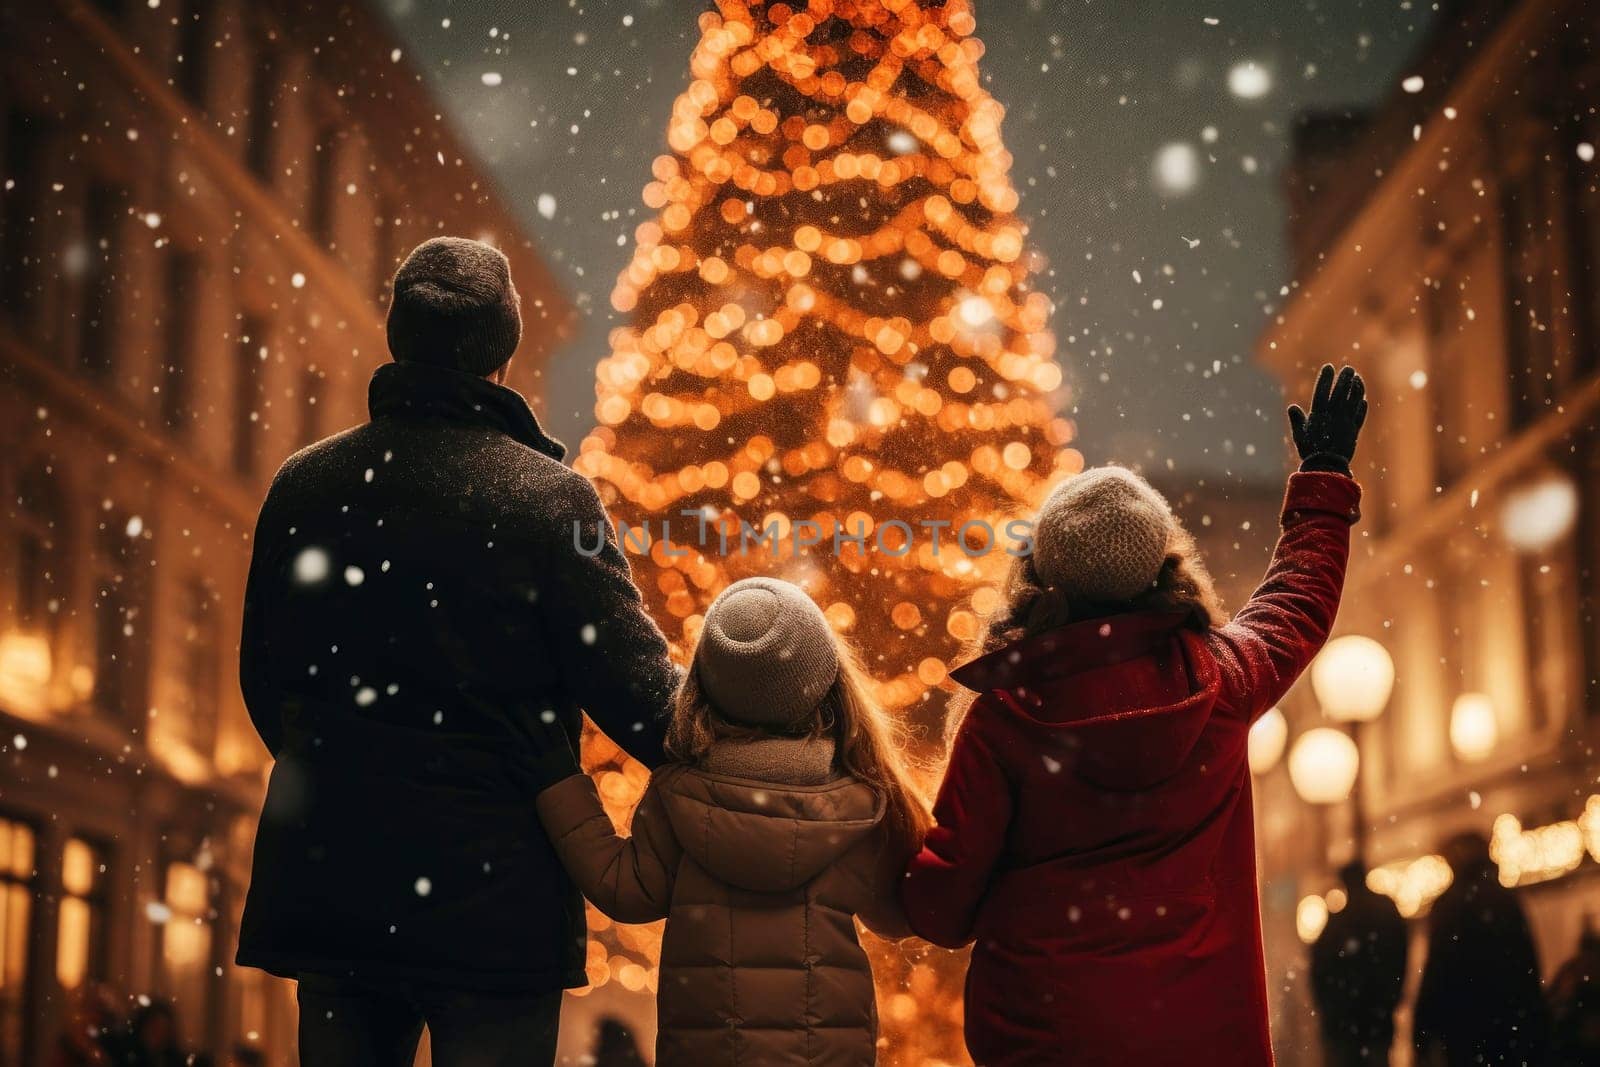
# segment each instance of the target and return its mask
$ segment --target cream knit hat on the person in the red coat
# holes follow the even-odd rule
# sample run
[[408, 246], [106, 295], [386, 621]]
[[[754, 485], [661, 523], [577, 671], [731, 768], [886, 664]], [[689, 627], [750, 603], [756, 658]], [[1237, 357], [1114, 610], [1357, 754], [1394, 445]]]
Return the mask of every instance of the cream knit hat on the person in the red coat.
[[1034, 520], [1034, 569], [1067, 597], [1122, 603], [1147, 590], [1166, 561], [1176, 520], [1150, 483], [1122, 467], [1067, 478]]

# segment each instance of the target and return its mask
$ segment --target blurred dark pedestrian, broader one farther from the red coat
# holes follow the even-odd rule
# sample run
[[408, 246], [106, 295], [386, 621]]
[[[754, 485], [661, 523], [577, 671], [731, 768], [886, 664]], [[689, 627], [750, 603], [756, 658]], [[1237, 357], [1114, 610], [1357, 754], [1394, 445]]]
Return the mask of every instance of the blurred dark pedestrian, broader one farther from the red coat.
[[1454, 881], [1429, 915], [1414, 1041], [1424, 1065], [1547, 1064], [1539, 955], [1517, 896], [1499, 883], [1482, 833], [1445, 845]]

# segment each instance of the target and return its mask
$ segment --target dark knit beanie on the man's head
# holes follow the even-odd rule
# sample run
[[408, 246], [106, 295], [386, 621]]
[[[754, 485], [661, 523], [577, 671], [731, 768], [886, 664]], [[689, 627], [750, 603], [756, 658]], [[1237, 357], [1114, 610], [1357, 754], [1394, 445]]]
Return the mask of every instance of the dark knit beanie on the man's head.
[[464, 237], [426, 240], [395, 272], [389, 352], [485, 378], [517, 350], [520, 304], [506, 253]]

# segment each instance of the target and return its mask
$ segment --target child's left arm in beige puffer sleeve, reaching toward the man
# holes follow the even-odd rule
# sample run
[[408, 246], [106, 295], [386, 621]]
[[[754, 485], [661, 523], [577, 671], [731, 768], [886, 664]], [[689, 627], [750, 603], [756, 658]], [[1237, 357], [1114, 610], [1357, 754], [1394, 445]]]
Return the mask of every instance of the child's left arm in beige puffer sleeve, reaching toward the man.
[[616, 832], [587, 774], [546, 789], [538, 806], [562, 865], [595, 907], [619, 923], [667, 917], [683, 849], [654, 781], [634, 809], [630, 837]]

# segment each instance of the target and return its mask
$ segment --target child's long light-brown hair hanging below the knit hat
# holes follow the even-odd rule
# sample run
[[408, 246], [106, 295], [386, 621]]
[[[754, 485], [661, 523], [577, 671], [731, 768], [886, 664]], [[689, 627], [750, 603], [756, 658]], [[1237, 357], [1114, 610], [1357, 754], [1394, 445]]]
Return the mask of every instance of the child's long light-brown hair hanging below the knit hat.
[[[906, 729], [874, 699], [854, 649], [838, 637], [834, 646], [838, 677], [818, 704], [811, 728], [802, 736], [830, 737], [840, 769], [883, 797], [888, 806], [885, 819], [894, 837], [906, 849], [917, 849], [933, 827], [933, 816], [912, 779]], [[667, 726], [670, 758], [698, 766], [718, 741], [771, 736], [778, 734], [730, 723], [718, 715], [690, 667]]]

